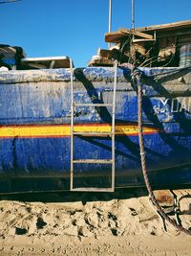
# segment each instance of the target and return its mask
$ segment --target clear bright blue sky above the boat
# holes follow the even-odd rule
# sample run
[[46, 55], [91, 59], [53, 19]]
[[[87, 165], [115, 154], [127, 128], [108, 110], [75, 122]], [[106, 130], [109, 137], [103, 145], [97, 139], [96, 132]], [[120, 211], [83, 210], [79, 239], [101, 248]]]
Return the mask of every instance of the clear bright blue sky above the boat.
[[[22, 0], [0, 5], [0, 43], [28, 57], [69, 56], [86, 66], [107, 48], [109, 0]], [[131, 27], [131, 0], [112, 0], [112, 31]], [[135, 0], [136, 27], [191, 19], [191, 0]]]

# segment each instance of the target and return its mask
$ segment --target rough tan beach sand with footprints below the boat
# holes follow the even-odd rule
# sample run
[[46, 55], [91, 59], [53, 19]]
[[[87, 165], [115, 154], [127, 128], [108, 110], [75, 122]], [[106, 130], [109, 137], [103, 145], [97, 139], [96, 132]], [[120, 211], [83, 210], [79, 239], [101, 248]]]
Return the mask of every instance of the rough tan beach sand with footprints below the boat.
[[[191, 190], [174, 193], [181, 224], [191, 228]], [[175, 218], [172, 194], [156, 195]], [[143, 189], [1, 196], [1, 255], [182, 256], [191, 255], [191, 237], [169, 224], [164, 232]]]

